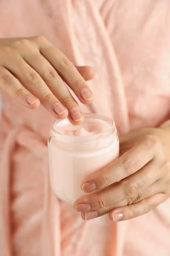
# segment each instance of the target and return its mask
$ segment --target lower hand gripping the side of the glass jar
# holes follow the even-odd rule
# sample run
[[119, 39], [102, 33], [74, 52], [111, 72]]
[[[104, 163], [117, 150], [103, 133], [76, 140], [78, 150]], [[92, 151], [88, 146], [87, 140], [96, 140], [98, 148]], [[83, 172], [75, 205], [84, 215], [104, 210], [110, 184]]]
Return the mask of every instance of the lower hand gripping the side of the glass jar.
[[[119, 182], [118, 182], [119, 181]], [[120, 137], [120, 157], [82, 182], [88, 192], [74, 208], [84, 220], [109, 213], [125, 221], [170, 197], [170, 128], [148, 128]]]

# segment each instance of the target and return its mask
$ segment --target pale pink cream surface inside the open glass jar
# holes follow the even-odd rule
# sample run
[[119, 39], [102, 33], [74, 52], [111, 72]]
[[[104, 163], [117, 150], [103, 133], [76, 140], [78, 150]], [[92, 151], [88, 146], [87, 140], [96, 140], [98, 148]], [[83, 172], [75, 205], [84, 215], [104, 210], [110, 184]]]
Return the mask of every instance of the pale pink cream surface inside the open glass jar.
[[110, 125], [97, 118], [85, 119], [81, 125], [71, 125], [68, 121], [61, 121], [58, 125], [55, 125], [55, 131], [71, 136], [89, 136], [93, 134], [101, 134], [110, 129]]

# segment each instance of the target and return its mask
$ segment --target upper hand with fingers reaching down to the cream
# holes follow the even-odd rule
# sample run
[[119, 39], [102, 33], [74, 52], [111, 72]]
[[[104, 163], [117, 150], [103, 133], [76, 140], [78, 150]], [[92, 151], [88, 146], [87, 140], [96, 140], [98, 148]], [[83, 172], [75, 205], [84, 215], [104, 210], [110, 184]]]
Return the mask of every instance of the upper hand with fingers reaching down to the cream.
[[93, 68], [75, 67], [42, 36], [0, 39], [0, 89], [27, 108], [41, 103], [55, 118], [79, 125], [83, 114], [65, 83], [89, 104], [93, 94], [85, 80], [93, 77]]

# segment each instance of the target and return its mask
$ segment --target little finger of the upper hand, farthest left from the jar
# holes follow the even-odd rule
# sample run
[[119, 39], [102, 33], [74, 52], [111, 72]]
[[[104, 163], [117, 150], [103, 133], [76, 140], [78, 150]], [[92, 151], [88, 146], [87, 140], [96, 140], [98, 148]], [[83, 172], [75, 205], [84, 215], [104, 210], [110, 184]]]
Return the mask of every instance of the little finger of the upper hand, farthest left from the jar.
[[26, 90], [20, 81], [2, 66], [0, 67], [0, 88], [27, 108], [35, 109], [40, 105], [39, 99]]

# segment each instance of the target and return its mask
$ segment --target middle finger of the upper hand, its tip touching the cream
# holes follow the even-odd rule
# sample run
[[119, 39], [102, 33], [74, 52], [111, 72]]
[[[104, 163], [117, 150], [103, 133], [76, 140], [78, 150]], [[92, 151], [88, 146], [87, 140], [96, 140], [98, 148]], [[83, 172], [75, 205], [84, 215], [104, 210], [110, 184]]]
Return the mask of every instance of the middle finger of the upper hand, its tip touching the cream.
[[57, 71], [51, 66], [51, 64], [42, 55], [40, 55], [39, 52], [25, 54], [24, 59], [42, 77], [45, 84], [47, 84], [48, 88], [51, 90], [54, 96], [56, 96], [59, 102], [61, 102], [62, 105], [67, 108], [69, 117], [71, 117], [71, 123], [81, 123], [83, 120], [83, 115], [79, 109], [78, 103], [73, 98], [66, 87], [66, 84], [59, 76]]

